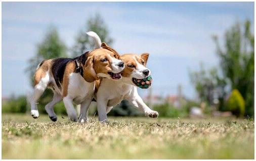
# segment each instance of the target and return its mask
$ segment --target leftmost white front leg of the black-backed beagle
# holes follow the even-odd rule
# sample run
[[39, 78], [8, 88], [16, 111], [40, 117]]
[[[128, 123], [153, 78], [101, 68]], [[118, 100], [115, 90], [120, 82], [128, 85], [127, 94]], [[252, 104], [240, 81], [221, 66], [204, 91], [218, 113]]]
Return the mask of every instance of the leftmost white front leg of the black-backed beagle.
[[63, 102], [67, 110], [68, 118], [70, 119], [70, 121], [77, 122], [77, 115], [73, 105], [73, 99], [70, 98], [69, 96], [66, 96], [63, 98]]

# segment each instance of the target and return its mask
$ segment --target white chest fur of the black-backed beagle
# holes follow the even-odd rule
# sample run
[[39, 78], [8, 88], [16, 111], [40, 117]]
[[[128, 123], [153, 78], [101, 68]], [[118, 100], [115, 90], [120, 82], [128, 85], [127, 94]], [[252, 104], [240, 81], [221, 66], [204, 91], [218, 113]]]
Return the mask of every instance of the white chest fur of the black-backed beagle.
[[76, 104], [80, 104], [84, 99], [92, 97], [95, 89], [95, 82], [89, 83], [80, 74], [71, 73], [69, 76], [68, 96]]

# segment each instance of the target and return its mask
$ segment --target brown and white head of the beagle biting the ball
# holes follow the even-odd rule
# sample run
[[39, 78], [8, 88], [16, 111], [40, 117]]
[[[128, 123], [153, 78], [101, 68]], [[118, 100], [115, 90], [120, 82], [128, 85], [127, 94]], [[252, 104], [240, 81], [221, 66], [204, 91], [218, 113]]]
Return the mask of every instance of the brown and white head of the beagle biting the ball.
[[150, 70], [146, 68], [149, 53], [142, 53], [138, 56], [133, 53], [126, 53], [120, 57], [124, 63], [123, 77], [143, 79], [150, 75]]

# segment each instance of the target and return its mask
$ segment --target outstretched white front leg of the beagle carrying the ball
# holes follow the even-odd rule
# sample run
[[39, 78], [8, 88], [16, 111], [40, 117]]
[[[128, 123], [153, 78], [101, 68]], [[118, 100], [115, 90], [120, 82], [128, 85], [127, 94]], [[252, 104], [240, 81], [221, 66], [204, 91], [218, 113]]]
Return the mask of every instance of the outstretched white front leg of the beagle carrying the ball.
[[158, 112], [151, 110], [147, 104], [145, 104], [142, 98], [139, 96], [137, 88], [134, 88], [133, 91], [126, 95], [125, 98], [135, 106], [138, 110], [143, 112], [146, 117], [157, 118]]

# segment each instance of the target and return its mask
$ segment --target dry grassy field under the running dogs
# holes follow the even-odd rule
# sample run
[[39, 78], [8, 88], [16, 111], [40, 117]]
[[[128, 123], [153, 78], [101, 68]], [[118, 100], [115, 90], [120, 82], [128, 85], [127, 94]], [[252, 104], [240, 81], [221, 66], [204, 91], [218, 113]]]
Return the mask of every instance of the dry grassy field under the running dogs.
[[2, 115], [2, 159], [254, 159], [254, 121]]

